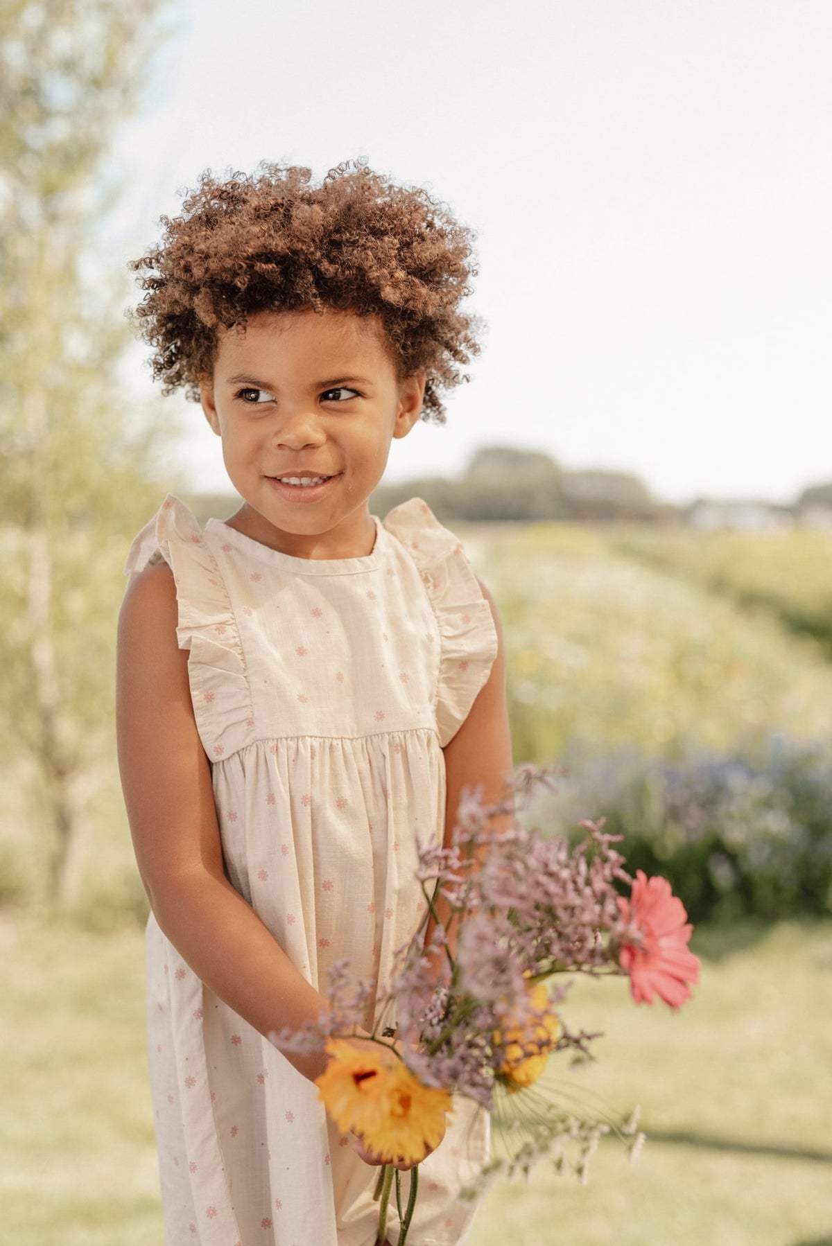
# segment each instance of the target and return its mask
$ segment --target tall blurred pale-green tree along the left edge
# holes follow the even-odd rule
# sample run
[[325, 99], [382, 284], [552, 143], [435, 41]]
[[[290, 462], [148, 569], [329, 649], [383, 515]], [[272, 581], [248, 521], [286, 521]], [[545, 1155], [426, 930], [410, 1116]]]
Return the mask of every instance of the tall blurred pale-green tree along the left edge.
[[158, 430], [125, 401], [126, 275], [102, 237], [162, 2], [0, 0], [0, 734], [64, 903], [111, 733], [123, 533], [152, 510]]

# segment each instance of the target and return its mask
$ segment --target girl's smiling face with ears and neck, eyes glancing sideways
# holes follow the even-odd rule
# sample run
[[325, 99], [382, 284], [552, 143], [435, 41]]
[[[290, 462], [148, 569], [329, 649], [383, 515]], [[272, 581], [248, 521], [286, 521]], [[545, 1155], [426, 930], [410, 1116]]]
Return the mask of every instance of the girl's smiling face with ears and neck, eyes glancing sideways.
[[200, 399], [244, 500], [232, 527], [301, 558], [369, 553], [367, 500], [423, 395], [423, 376], [398, 378], [374, 319], [259, 312], [225, 331]]

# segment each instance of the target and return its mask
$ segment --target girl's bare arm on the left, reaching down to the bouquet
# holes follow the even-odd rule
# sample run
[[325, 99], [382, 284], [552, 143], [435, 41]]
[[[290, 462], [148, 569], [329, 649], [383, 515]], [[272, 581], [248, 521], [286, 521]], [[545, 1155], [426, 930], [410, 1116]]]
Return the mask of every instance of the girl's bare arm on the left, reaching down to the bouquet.
[[[119, 765], [151, 907], [193, 972], [261, 1034], [299, 1029], [326, 1008], [251, 906], [228, 882], [166, 563], [127, 591], [119, 623]], [[313, 1079], [321, 1054], [288, 1054]]]

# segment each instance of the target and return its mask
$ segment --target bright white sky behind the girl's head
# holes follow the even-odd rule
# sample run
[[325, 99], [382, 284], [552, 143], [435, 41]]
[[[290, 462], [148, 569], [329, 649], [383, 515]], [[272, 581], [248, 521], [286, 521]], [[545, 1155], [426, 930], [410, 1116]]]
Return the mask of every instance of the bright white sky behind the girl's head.
[[[120, 148], [132, 253], [177, 187], [263, 158], [322, 174], [367, 156], [478, 232], [483, 355], [389, 478], [454, 475], [494, 444], [674, 501], [832, 478], [828, 0], [177, 11]], [[221, 487], [198, 407], [167, 401], [192, 483]]]

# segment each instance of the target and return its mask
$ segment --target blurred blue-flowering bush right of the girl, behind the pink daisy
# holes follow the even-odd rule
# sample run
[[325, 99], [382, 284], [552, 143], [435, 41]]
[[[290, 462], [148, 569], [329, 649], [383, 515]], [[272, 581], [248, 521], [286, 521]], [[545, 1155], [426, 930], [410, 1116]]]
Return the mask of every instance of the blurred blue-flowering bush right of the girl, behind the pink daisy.
[[832, 915], [832, 750], [772, 739], [748, 755], [576, 758], [549, 825], [605, 817], [627, 867], [662, 873], [694, 922]]

